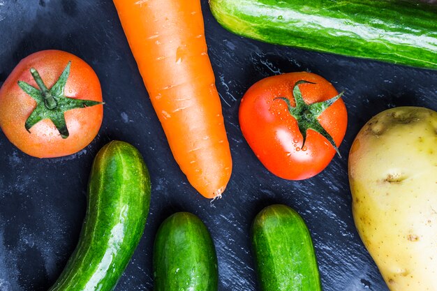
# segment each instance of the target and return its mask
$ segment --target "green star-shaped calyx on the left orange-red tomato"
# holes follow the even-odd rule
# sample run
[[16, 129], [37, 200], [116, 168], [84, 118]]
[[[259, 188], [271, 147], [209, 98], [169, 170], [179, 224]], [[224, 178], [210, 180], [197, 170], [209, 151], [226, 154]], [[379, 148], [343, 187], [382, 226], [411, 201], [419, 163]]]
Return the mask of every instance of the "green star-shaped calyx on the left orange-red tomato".
[[54, 126], [56, 126], [61, 137], [67, 138], [69, 133], [64, 117], [64, 113], [66, 111], [104, 104], [94, 100], [68, 98], [64, 95], [65, 85], [68, 80], [68, 76], [70, 75], [70, 67], [71, 61], [68, 62], [61, 76], [59, 76], [59, 79], [51, 89], [47, 89], [43, 79], [40, 77], [38, 71], [34, 68], [31, 68], [30, 72], [34, 77], [36, 84], [38, 84], [39, 89], [27, 84], [26, 82], [18, 81], [18, 86], [20, 86], [24, 92], [26, 92], [36, 101], [36, 108], [30, 114], [26, 120], [26, 123], [24, 124], [24, 127], [27, 131], [29, 131], [30, 128], [39, 121], [43, 119], [50, 119]]

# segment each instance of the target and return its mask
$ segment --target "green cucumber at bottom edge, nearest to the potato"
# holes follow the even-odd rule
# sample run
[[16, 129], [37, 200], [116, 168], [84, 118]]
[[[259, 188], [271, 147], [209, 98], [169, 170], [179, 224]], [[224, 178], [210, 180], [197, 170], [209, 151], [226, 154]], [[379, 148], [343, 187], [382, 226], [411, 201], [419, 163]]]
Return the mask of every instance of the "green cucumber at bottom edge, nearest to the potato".
[[309, 230], [290, 207], [275, 204], [260, 211], [252, 244], [261, 290], [322, 290]]

